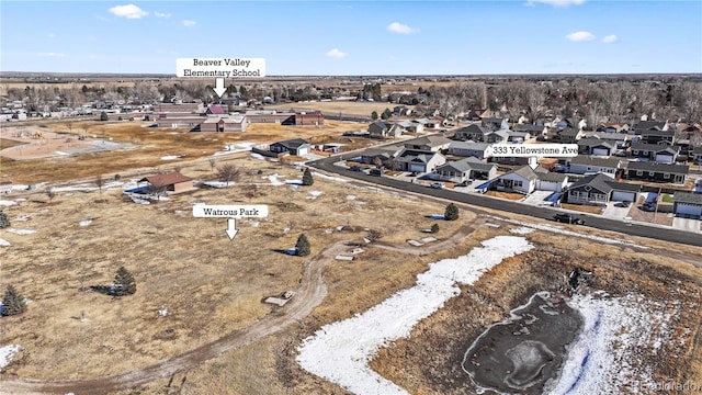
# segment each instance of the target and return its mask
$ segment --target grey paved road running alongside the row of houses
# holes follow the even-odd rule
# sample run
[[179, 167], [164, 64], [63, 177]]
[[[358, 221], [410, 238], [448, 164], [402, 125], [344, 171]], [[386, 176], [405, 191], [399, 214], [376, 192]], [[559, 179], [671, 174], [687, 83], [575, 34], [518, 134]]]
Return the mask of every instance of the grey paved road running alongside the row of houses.
[[[409, 192], [421, 193], [429, 196], [435, 196], [441, 199], [448, 199], [455, 202], [466, 203], [479, 207], [488, 207], [510, 213], [518, 213], [522, 215], [529, 215], [536, 218], [551, 219], [554, 214], [559, 211], [548, 207], [536, 207], [508, 200], [501, 200], [490, 196], [485, 196], [479, 193], [461, 193], [446, 189], [431, 189], [421, 184], [409, 183], [406, 181], [399, 181], [388, 177], [373, 177], [363, 172], [350, 171], [346, 168], [335, 166], [333, 163], [339, 160], [346, 160], [356, 157], [358, 154], [344, 154], [341, 156], [333, 156], [308, 162], [308, 166], [324, 170], [331, 173], [342, 174], [347, 178], [363, 180], [366, 182], [374, 182], [384, 187], [390, 187]], [[629, 224], [616, 219], [610, 219], [596, 215], [581, 215], [586, 218], [587, 226], [596, 227], [604, 230], [619, 232], [632, 236], [642, 236], [648, 238], [655, 238], [658, 240], [682, 242], [691, 246], [702, 247], [702, 235], [690, 232], [683, 232], [667, 227], [659, 227], [655, 225], [645, 224]]]

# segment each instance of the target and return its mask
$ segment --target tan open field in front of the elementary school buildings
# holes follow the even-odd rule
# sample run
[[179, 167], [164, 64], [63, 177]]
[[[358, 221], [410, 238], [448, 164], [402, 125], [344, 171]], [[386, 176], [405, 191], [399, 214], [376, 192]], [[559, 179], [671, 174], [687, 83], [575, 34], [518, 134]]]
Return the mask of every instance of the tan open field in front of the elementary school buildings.
[[[372, 144], [364, 138], [340, 137], [344, 131], [365, 128], [367, 125], [352, 122], [328, 121], [322, 127], [292, 127], [274, 124], [253, 124], [246, 133], [188, 133], [186, 129], [148, 128], [135, 122], [77, 122], [45, 124], [44, 131], [61, 133], [65, 137], [80, 134], [88, 138], [112, 139], [116, 143], [131, 144], [129, 149], [91, 153], [82, 155], [58, 155], [50, 158], [32, 160], [13, 160], [0, 157], [0, 177], [14, 183], [64, 182], [75, 179], [94, 178], [99, 174], [128, 174], [129, 171], [144, 169], [157, 171], [170, 169], [174, 166], [186, 167], [196, 161], [206, 163], [216, 153], [222, 153], [225, 145], [238, 143], [267, 144], [290, 138], [306, 138], [314, 144], [341, 143], [349, 149], [355, 149]], [[3, 133], [11, 133], [11, 128], [3, 128]], [[73, 138], [75, 140], [76, 138]], [[31, 140], [41, 146], [42, 140]], [[64, 140], [61, 140], [64, 142]], [[63, 144], [66, 144], [65, 142]], [[71, 143], [77, 145], [78, 142]], [[70, 148], [70, 147], [64, 147]], [[23, 148], [25, 149], [25, 148]], [[29, 151], [30, 149], [26, 148]], [[178, 156], [176, 160], [162, 160], [165, 156]], [[217, 157], [226, 160], [227, 156]]]

